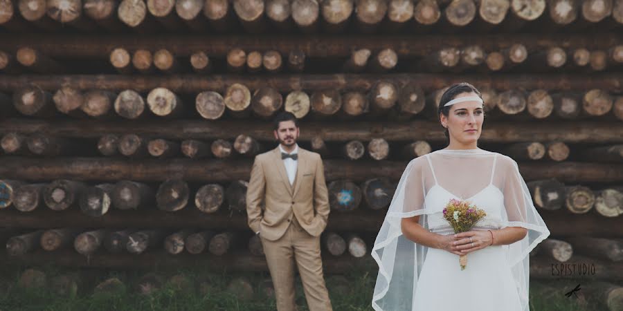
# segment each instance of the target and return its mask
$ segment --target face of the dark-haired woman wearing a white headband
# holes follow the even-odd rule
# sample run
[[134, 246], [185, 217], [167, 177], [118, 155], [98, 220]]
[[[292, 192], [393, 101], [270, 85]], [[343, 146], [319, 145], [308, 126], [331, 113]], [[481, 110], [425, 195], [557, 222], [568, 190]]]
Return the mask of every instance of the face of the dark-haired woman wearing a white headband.
[[[476, 93], [461, 93], [454, 98], [476, 96]], [[442, 125], [448, 127], [451, 138], [461, 144], [469, 144], [480, 138], [482, 122], [485, 120], [482, 103], [458, 102], [450, 107], [448, 117], [442, 114]]]

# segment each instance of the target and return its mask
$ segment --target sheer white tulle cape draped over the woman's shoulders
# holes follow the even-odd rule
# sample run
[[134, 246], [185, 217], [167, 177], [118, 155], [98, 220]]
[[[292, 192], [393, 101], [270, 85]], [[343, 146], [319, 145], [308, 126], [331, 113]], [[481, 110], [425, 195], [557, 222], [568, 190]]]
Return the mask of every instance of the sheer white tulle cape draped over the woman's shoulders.
[[473, 198], [471, 194], [479, 193], [478, 189], [487, 183], [503, 194], [504, 207], [500, 218], [482, 221], [500, 229], [527, 229], [521, 241], [505, 245], [505, 252], [521, 300], [521, 310], [529, 310], [529, 253], [550, 232], [532, 203], [517, 163], [500, 153], [482, 149], [442, 149], [408, 163], [372, 247], [372, 257], [379, 265], [372, 298], [374, 310], [412, 309], [428, 247], [403, 236], [401, 218], [420, 216], [419, 225], [432, 232], [439, 223], [432, 223], [429, 219], [435, 214], [433, 218], [440, 219], [438, 213], [442, 207], [426, 206], [428, 191], [440, 185], [452, 194], [460, 194], [458, 198]]

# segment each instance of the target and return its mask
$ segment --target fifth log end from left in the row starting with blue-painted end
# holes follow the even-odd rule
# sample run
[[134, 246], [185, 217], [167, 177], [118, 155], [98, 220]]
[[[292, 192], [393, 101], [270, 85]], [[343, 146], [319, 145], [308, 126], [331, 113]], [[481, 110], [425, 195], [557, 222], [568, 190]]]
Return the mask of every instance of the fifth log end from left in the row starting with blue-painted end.
[[110, 193], [112, 205], [116, 209], [141, 209], [154, 203], [154, 189], [142, 182], [120, 180]]

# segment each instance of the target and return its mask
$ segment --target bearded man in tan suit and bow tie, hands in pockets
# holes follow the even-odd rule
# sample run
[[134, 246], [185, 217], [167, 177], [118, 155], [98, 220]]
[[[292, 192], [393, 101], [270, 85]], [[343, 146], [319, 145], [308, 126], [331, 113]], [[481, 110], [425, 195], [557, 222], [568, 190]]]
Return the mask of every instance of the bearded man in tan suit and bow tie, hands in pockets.
[[246, 191], [249, 227], [262, 240], [277, 310], [296, 310], [295, 261], [309, 310], [332, 310], [320, 259], [320, 234], [329, 216], [323, 161], [296, 144], [299, 129], [292, 113], [280, 113], [274, 123], [280, 144], [255, 157]]

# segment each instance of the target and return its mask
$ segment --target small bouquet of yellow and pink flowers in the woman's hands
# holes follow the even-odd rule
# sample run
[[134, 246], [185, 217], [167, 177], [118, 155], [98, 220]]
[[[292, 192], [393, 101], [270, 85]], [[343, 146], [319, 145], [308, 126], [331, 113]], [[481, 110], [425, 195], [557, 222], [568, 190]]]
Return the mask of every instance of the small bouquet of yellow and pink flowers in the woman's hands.
[[[487, 216], [485, 211], [467, 201], [451, 199], [444, 207], [444, 218], [454, 228], [455, 234], [471, 230], [471, 227], [476, 225], [478, 220], [485, 218], [485, 216]], [[465, 270], [467, 254], [459, 257], [459, 264], [461, 265], [461, 270]]]

